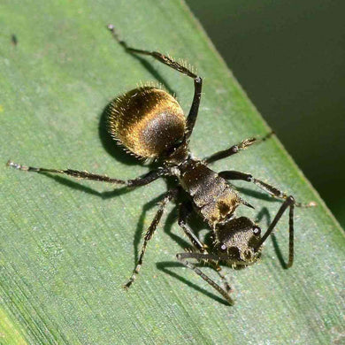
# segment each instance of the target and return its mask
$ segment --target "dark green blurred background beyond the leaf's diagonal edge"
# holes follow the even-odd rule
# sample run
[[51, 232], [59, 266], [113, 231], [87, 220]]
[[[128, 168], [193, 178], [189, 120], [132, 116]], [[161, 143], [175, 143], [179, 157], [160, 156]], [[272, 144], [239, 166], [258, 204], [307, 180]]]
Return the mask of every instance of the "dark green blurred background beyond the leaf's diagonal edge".
[[345, 2], [187, 3], [344, 227]]

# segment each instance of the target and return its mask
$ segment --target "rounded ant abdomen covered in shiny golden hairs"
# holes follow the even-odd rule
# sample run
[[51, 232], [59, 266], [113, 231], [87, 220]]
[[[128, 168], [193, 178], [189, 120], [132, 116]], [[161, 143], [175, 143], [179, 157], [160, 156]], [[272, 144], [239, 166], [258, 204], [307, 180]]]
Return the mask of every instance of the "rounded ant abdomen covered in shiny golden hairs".
[[156, 158], [183, 138], [186, 119], [176, 99], [160, 88], [134, 88], [111, 102], [111, 136], [138, 157]]

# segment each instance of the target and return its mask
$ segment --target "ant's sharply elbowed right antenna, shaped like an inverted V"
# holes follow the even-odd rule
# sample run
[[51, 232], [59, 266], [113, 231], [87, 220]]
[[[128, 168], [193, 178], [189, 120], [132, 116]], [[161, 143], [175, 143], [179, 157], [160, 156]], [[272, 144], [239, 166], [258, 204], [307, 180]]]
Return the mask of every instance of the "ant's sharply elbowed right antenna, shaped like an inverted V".
[[280, 220], [281, 216], [284, 212], [288, 209], [288, 265], [287, 268], [291, 267], [294, 263], [294, 209], [295, 209], [295, 199], [293, 196], [288, 196], [285, 202], [280, 206], [279, 211], [277, 212], [276, 216], [272, 220], [270, 226], [266, 230], [264, 236], [261, 238], [260, 242], [257, 243], [255, 247], [255, 251], [257, 251], [263, 243], [266, 241], [267, 237], [272, 234], [274, 227], [277, 225], [278, 221]]

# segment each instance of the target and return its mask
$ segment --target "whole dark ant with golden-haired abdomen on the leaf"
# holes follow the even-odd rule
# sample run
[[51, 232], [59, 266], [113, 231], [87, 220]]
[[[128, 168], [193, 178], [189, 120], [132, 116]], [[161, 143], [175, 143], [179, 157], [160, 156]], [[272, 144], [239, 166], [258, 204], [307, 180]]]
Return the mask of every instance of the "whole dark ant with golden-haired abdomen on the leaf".
[[[144, 186], [165, 176], [175, 177], [179, 181], [179, 185], [171, 188], [159, 204], [155, 218], [144, 235], [141, 254], [132, 276], [124, 287], [130, 288], [136, 279], [142, 267], [149, 240], [156, 231], [166, 205], [184, 194], [188, 196], [188, 201], [180, 203], [178, 223], [193, 245], [194, 251], [179, 253], [176, 257], [181, 264], [196, 272], [232, 305], [234, 300], [229, 295], [231, 288], [221, 272], [219, 262], [233, 267], [244, 267], [256, 263], [264, 242], [272, 234], [283, 213], [289, 210], [287, 267], [291, 267], [294, 260], [294, 209], [295, 206], [303, 205], [296, 203], [293, 196], [288, 196], [278, 188], [274, 188], [262, 180], [257, 180], [249, 173], [237, 171], [215, 173], [208, 167], [212, 162], [231, 157], [243, 149], [249, 148], [255, 142], [264, 141], [270, 134], [262, 139], [243, 140], [229, 149], [219, 151], [203, 160], [194, 157], [188, 149], [188, 142], [196, 124], [202, 96], [202, 78], [173, 58], [157, 51], [138, 50], [129, 47], [126, 42], [119, 39], [112, 25], [109, 25], [108, 28], [126, 52], [155, 58], [194, 80], [195, 92], [187, 119], [180, 108], [180, 104], [173, 96], [161, 88], [152, 86], [134, 88], [125, 95], [114, 99], [110, 104], [107, 125], [112, 138], [135, 157], [150, 158], [160, 162], [160, 166], [134, 180], [118, 180], [85, 171], [35, 168], [18, 165], [12, 161], [9, 161], [7, 165], [23, 171], [59, 173], [77, 179], [98, 180], [126, 187]], [[244, 180], [253, 183], [269, 195], [284, 201], [263, 236], [261, 236], [260, 227], [255, 222], [247, 217], [236, 217], [235, 211], [238, 206], [244, 205], [250, 208], [253, 206], [243, 200], [227, 183], [227, 180]], [[313, 205], [314, 203], [309, 203], [305, 206]], [[188, 226], [188, 217], [192, 212], [201, 216], [204, 223], [211, 228], [213, 241], [210, 248], [201, 242]], [[211, 280], [196, 264], [188, 261], [189, 259], [211, 265], [218, 272], [224, 288]]]

